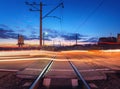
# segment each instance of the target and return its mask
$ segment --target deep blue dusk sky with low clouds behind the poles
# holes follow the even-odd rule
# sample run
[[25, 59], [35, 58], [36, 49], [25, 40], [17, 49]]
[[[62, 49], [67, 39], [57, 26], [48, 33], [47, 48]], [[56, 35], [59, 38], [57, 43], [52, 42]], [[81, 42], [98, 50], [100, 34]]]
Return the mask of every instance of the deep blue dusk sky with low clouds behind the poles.
[[29, 11], [26, 1], [46, 4], [43, 16], [63, 1], [64, 8], [49, 15], [61, 19], [43, 19], [48, 41], [71, 41], [77, 33], [79, 41], [95, 42], [120, 33], [120, 0], [0, 0], [0, 43], [14, 42], [18, 34], [27, 41], [39, 39], [39, 12]]

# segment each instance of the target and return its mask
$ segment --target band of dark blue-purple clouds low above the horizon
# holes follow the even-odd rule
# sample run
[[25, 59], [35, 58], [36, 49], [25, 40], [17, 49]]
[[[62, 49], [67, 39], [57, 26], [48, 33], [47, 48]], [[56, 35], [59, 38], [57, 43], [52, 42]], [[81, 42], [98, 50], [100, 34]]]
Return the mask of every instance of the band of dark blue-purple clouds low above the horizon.
[[[34, 28], [32, 26], [27, 26], [27, 30], [29, 30], [29, 33], [24, 32], [24, 30], [21, 29], [20, 35], [23, 35], [25, 40], [39, 40], [39, 33], [38, 33], [37, 28]], [[65, 34], [64, 32], [59, 32], [59, 31], [54, 30], [54, 29], [43, 29], [43, 33], [45, 33], [45, 32], [47, 32], [48, 34], [44, 34], [44, 40], [48, 40], [48, 41], [51, 41], [54, 38], [61, 38], [61, 39], [68, 40], [68, 41], [76, 39], [76, 33]], [[15, 32], [14, 30], [10, 29], [6, 25], [0, 24], [0, 38], [17, 39], [18, 33], [19, 32]], [[89, 36], [85, 36], [85, 35], [82, 35], [79, 33], [77, 33], [77, 39], [79, 41], [83, 41], [83, 42], [97, 42], [98, 41], [98, 38], [95, 38], [95, 37], [89, 38]]]

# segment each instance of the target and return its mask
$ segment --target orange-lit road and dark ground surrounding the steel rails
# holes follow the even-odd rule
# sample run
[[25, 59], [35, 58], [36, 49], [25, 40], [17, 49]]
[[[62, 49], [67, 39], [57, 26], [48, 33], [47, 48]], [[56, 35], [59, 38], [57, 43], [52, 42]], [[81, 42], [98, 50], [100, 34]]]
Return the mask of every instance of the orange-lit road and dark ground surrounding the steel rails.
[[52, 59], [46, 77], [76, 78], [70, 60], [93, 89], [119, 89], [119, 55], [119, 50], [1, 51], [0, 89], [28, 89]]

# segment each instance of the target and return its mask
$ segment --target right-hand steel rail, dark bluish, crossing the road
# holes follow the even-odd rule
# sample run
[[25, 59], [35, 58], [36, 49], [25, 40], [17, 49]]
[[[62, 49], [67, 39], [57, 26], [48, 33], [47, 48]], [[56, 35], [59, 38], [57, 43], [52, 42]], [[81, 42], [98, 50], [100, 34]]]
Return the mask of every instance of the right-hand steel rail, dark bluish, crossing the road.
[[[79, 82], [81, 81], [82, 85], [82, 89], [91, 89], [90, 86], [87, 84], [87, 82], [85, 81], [85, 79], [83, 78], [83, 76], [80, 74], [80, 72], [78, 71], [78, 69], [76, 68], [76, 66], [74, 64], [72, 64], [72, 62], [68, 59], [69, 64], [71, 65], [71, 67], [73, 68], [75, 74], [77, 75]], [[85, 86], [84, 86], [85, 85]]]

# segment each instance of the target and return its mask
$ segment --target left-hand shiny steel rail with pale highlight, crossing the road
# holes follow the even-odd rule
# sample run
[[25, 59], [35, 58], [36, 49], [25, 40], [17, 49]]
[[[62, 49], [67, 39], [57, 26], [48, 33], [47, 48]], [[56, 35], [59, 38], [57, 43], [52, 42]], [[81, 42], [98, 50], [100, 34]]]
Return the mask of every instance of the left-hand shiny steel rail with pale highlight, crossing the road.
[[45, 68], [42, 70], [42, 72], [40, 73], [40, 75], [37, 77], [37, 79], [33, 82], [33, 84], [30, 86], [29, 89], [37, 89], [40, 83], [40, 80], [44, 77], [44, 75], [48, 72], [48, 70], [50, 69], [51, 65], [53, 64], [53, 60], [51, 60], [46, 66]]

